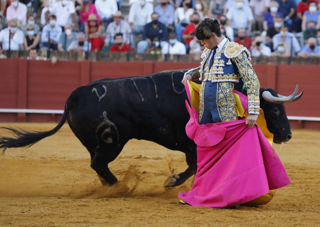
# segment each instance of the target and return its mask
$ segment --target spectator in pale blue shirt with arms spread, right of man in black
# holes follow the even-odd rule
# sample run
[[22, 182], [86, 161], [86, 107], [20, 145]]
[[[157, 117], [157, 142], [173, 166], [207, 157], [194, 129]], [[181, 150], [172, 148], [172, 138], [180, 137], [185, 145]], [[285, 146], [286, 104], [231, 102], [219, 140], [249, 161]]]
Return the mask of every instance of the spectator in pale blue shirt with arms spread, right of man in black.
[[296, 36], [288, 30], [288, 26], [284, 24], [280, 29], [280, 33], [273, 36], [273, 49], [276, 49], [280, 42], [284, 42], [287, 44], [291, 52], [291, 56], [295, 57], [296, 53], [298, 53], [301, 50], [301, 47]]

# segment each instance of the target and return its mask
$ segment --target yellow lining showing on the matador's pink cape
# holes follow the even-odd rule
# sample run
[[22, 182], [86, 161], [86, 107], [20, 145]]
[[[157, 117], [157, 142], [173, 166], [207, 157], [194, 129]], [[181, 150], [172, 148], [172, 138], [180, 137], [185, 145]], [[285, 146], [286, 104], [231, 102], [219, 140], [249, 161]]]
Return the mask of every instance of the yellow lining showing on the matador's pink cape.
[[[199, 112], [199, 104], [200, 104], [199, 92], [200, 92], [201, 84], [196, 84], [195, 82], [192, 82], [192, 81], [187, 81], [187, 83], [188, 83], [188, 87], [190, 90], [192, 107], [197, 112]], [[236, 100], [236, 111], [237, 111], [238, 117], [247, 118], [249, 114], [247, 112], [244, 112], [243, 106], [240, 101], [240, 96], [235, 93], [233, 93], [233, 96], [235, 97], [235, 100]], [[258, 115], [258, 119], [257, 119], [256, 123], [272, 146], [273, 134], [271, 132], [269, 132], [269, 130], [267, 128], [266, 119], [264, 117], [263, 110], [261, 110], [261, 109], [260, 109], [260, 114]], [[261, 195], [260, 197], [254, 199], [252, 201], [249, 201], [249, 202], [245, 203], [244, 205], [264, 205], [264, 204], [267, 204], [273, 198], [275, 193], [276, 193], [276, 190], [270, 190], [270, 193]]]

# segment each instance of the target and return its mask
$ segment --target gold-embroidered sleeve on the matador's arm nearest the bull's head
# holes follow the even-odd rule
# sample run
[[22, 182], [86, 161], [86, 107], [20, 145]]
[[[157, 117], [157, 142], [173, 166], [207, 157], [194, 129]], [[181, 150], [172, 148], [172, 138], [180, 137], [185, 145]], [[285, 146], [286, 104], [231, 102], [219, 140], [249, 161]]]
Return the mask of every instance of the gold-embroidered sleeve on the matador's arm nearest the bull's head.
[[[248, 95], [248, 113], [249, 114], [259, 114], [260, 108], [260, 83], [257, 78], [256, 73], [252, 68], [252, 64], [250, 63], [250, 52], [242, 45], [235, 43], [233, 48], [229, 48], [228, 50], [233, 49], [232, 58], [234, 64], [236, 64], [238, 68], [238, 72], [240, 76], [244, 80], [245, 87], [247, 88]], [[231, 50], [232, 51], [232, 50]], [[228, 63], [227, 63], [228, 64]]]

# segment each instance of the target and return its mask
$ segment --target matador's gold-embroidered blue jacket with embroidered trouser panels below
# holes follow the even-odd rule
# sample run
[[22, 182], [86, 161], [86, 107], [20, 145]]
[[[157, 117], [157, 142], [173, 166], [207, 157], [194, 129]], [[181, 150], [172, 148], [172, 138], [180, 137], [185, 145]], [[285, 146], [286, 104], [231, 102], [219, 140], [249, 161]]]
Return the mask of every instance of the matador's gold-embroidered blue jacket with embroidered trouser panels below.
[[217, 53], [211, 69], [208, 58], [211, 49], [204, 49], [200, 66], [189, 70], [192, 80], [202, 80], [200, 89], [199, 123], [204, 111], [205, 83], [217, 84], [217, 109], [222, 122], [237, 120], [236, 102], [234, 99], [234, 83], [243, 78], [248, 94], [248, 113], [259, 114], [260, 83], [250, 63], [250, 52], [243, 45], [227, 41], [221, 51]]

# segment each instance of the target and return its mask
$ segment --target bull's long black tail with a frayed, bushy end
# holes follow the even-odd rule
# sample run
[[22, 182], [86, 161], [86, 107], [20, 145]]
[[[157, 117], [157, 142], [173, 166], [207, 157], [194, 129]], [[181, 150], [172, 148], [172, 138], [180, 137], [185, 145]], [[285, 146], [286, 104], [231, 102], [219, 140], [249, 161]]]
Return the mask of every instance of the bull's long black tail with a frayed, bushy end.
[[20, 128], [19, 128], [20, 129], [20, 131], [19, 131], [14, 128], [0, 127], [0, 129], [10, 130], [14, 135], [13, 138], [0, 137], [0, 149], [4, 148], [3, 153], [7, 148], [31, 147], [35, 143], [44, 139], [45, 137], [51, 136], [54, 133], [58, 132], [58, 130], [62, 127], [62, 125], [67, 120], [67, 117], [69, 115], [69, 110], [71, 110], [71, 108], [72, 108], [72, 102], [74, 99], [73, 97], [75, 97], [75, 92], [73, 92], [67, 99], [61, 121], [59, 122], [59, 124], [55, 128], [53, 128], [50, 131], [45, 131], [45, 132], [31, 131], [31, 132], [28, 132], [28, 131], [20, 129]]

